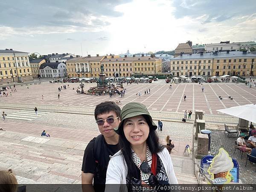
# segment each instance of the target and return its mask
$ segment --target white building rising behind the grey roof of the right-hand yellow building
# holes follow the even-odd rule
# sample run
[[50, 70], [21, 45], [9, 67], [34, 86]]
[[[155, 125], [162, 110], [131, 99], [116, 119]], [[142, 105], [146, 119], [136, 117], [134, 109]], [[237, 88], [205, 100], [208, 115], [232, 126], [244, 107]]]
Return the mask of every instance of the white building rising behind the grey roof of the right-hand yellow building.
[[205, 44], [204, 47], [206, 52], [215, 52], [215, 51], [239, 51], [240, 43], [231, 43], [230, 41], [224, 41], [219, 44]]

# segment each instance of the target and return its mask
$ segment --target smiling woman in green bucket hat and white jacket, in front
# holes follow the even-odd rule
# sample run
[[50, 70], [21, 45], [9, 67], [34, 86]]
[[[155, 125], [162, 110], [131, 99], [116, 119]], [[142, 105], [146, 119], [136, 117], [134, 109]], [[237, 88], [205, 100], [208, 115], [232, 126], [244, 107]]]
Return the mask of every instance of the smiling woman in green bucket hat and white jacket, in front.
[[122, 108], [121, 122], [115, 128], [122, 149], [109, 161], [106, 184], [126, 185], [106, 185], [105, 191], [177, 184], [171, 157], [160, 145], [156, 129], [145, 105], [131, 102]]

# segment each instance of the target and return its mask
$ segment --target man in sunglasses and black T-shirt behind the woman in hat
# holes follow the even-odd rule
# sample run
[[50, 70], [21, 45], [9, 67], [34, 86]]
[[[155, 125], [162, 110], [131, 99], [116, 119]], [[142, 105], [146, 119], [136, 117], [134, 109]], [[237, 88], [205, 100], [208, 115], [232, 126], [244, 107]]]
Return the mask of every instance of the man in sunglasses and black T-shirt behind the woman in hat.
[[[119, 136], [113, 130], [120, 123], [121, 109], [115, 102], [102, 102], [96, 106], [94, 116], [101, 133], [88, 143], [82, 163], [83, 192], [104, 192], [107, 166], [110, 158], [119, 151]], [[93, 184], [93, 187], [92, 187]]]

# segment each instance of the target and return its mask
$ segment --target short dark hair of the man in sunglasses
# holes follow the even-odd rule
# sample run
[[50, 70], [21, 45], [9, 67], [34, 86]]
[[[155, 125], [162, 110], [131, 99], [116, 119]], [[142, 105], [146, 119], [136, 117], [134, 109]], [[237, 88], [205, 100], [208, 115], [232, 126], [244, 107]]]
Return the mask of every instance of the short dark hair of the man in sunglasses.
[[97, 116], [100, 114], [105, 114], [105, 113], [110, 113], [110, 112], [115, 112], [117, 116], [120, 117], [121, 114], [121, 109], [119, 108], [118, 105], [116, 105], [115, 102], [112, 101], [107, 101], [107, 102], [102, 102], [99, 105], [96, 105], [95, 111], [94, 111], [94, 117], [95, 120], [97, 121]]

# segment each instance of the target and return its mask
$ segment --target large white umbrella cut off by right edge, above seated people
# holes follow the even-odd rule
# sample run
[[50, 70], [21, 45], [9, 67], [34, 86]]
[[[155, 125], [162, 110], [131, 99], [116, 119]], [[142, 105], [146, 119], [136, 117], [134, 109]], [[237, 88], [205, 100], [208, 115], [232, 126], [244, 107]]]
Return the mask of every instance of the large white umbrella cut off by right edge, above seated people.
[[216, 111], [256, 123], [256, 104], [236, 106], [227, 109], [219, 109]]

